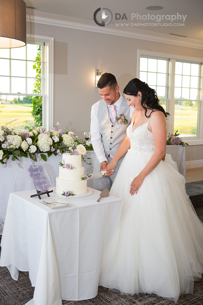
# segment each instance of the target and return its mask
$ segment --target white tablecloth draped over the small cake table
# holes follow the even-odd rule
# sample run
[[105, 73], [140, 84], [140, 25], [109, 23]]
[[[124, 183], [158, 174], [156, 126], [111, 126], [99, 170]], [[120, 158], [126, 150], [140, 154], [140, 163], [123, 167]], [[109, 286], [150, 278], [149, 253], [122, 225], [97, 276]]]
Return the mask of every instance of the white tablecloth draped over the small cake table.
[[94, 190], [88, 197], [68, 198], [72, 205], [53, 210], [30, 198], [34, 192], [9, 196], [0, 266], [6, 266], [14, 280], [18, 270], [29, 271], [35, 286], [29, 304], [61, 305], [61, 299], [95, 297], [102, 253], [118, 228], [123, 200], [109, 196], [98, 203], [100, 192]]

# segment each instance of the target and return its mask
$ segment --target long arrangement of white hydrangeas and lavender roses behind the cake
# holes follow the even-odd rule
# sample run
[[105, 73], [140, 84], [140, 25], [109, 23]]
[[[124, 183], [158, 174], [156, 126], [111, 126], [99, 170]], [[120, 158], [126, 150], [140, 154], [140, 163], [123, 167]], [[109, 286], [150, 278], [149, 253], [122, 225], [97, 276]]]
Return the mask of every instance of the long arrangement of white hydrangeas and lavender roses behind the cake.
[[[44, 126], [26, 126], [21, 130], [9, 129], [2, 125], [0, 127], [0, 162], [3, 167], [6, 167], [10, 156], [12, 161], [16, 160], [20, 167], [22, 167], [21, 157], [29, 157], [33, 162], [41, 159], [47, 161], [47, 156], [50, 157], [52, 154], [57, 156], [65, 152], [73, 155], [80, 154], [84, 160], [86, 153], [84, 143], [77, 140], [78, 137], [73, 131], [65, 132], [65, 128], [57, 131], [56, 128], [59, 125], [57, 122], [50, 131], [47, 131]], [[43, 152], [47, 152], [47, 156]]]

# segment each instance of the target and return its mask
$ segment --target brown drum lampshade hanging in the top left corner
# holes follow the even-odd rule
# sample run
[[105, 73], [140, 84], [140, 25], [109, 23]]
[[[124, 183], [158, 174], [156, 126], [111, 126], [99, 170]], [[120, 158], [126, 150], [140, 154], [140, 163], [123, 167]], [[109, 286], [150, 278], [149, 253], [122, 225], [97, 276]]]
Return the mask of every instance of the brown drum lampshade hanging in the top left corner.
[[26, 45], [26, 3], [0, 0], [0, 48]]

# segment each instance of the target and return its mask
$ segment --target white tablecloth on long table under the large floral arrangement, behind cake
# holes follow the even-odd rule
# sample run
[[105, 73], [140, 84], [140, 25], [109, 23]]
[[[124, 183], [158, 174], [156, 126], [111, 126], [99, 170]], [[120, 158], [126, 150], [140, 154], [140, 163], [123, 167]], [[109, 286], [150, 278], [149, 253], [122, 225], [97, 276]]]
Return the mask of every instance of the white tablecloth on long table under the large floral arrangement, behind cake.
[[[92, 154], [94, 156], [94, 152], [87, 152], [85, 158], [92, 158]], [[22, 159], [23, 162], [32, 164], [29, 158], [23, 157]], [[61, 155], [52, 155], [47, 158], [47, 162], [43, 160], [40, 161], [40, 163], [44, 165], [53, 186], [56, 186], [56, 177], [59, 176], [59, 162], [62, 162]], [[87, 160], [87, 162], [91, 163], [91, 160]], [[83, 162], [83, 166], [85, 168], [85, 174], [93, 172], [93, 165], [87, 165]], [[34, 184], [33, 181], [28, 177], [27, 171], [18, 167], [17, 163], [9, 158], [5, 168], [3, 168], [0, 164], [0, 185], [0, 223], [3, 225], [9, 200], [9, 194], [11, 192], [27, 191], [33, 189]], [[93, 180], [87, 181], [87, 185], [93, 188]], [[1, 227], [0, 234], [2, 234]]]

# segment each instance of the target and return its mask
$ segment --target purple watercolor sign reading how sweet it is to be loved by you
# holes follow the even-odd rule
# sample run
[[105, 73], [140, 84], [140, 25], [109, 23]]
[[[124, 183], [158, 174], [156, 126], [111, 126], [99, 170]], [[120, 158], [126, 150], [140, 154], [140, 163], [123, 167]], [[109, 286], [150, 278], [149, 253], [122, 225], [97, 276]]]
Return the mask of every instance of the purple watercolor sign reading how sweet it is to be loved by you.
[[32, 164], [27, 168], [27, 173], [32, 179], [36, 190], [40, 192], [53, 188], [52, 182], [42, 163]]

